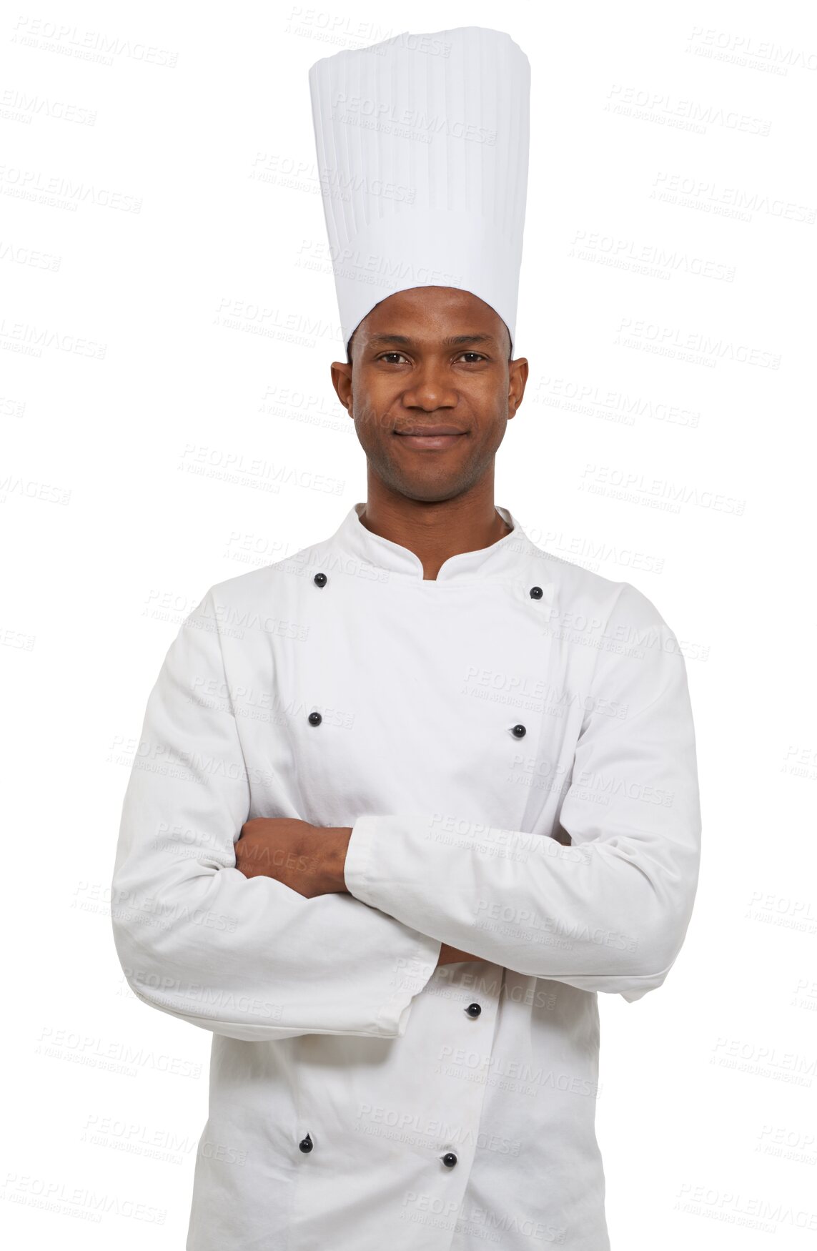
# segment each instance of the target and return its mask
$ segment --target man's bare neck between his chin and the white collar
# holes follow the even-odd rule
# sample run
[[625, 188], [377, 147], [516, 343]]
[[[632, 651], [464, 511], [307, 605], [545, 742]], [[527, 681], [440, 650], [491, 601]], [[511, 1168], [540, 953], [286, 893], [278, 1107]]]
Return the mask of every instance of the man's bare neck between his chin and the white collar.
[[434, 500], [410, 499], [370, 479], [360, 522], [373, 534], [414, 552], [423, 564], [423, 580], [435, 580], [449, 557], [478, 552], [510, 533], [494, 504], [493, 479], [453, 499]]

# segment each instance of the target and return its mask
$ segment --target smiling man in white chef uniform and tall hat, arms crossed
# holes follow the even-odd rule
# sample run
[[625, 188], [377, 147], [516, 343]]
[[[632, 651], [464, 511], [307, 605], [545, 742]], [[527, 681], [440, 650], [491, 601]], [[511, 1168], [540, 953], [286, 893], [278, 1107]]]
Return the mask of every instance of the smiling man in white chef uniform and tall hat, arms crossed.
[[114, 868], [130, 987], [213, 1035], [186, 1247], [606, 1251], [598, 992], [663, 983], [698, 878], [684, 661], [493, 502], [524, 53], [407, 33], [309, 81], [368, 499], [184, 622]]

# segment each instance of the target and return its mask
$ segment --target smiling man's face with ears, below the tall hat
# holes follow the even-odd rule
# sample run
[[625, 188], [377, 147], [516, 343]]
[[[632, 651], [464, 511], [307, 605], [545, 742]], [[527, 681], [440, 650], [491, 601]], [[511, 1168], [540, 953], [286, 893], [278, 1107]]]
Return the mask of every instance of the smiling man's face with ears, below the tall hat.
[[[412, 499], [450, 499], [493, 473], [528, 378], [502, 318], [470, 291], [415, 286], [363, 319], [332, 380], [369, 472]], [[417, 433], [414, 433], [417, 432]]]

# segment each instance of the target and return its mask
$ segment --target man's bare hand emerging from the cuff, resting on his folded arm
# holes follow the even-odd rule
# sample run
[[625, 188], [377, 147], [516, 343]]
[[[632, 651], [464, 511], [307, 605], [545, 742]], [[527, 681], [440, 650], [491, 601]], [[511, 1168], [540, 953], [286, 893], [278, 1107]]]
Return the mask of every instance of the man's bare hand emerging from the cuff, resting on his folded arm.
[[244, 877], [274, 877], [308, 899], [347, 892], [343, 866], [350, 836], [350, 826], [323, 827], [294, 817], [255, 817], [241, 826], [235, 867]]

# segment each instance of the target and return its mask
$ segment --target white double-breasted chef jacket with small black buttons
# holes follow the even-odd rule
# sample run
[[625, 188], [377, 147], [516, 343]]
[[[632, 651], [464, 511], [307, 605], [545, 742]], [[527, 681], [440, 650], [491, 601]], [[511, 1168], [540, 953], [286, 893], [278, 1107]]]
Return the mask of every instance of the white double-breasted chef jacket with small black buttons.
[[[208, 590], [125, 793], [119, 958], [213, 1033], [186, 1247], [607, 1251], [597, 992], [661, 986], [689, 922], [684, 661], [508, 509], [435, 580], [362, 509]], [[350, 893], [245, 878], [253, 817], [350, 826]]]

